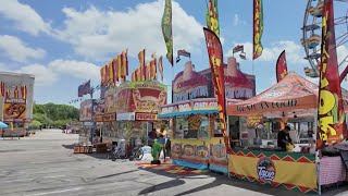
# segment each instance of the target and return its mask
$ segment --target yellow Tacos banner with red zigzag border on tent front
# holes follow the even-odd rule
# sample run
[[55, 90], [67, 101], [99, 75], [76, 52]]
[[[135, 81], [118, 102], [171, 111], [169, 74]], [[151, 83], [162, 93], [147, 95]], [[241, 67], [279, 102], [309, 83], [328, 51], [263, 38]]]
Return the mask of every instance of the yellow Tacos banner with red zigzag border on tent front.
[[228, 172], [232, 176], [275, 187], [282, 185], [303, 193], [318, 191], [315, 155], [311, 154], [235, 148], [228, 155]]

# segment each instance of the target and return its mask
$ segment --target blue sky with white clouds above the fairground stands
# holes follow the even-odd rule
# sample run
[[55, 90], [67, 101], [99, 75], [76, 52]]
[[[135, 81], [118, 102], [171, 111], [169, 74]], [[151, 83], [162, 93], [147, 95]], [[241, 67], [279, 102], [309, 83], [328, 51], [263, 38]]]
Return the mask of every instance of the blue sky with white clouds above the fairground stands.
[[[160, 26], [163, 5], [164, 0], [2, 0], [0, 71], [35, 74], [39, 103], [69, 103], [77, 98], [80, 83], [90, 78], [98, 85], [100, 66], [123, 49], [128, 48], [130, 72], [138, 66], [136, 54], [142, 48], [148, 60], [152, 52], [165, 54]], [[303, 75], [309, 65], [300, 45], [306, 5], [303, 0], [264, 0], [264, 52], [252, 62], [252, 0], [219, 1], [225, 60], [236, 44], [244, 44], [248, 60], [238, 61], [246, 73], [252, 72], [253, 64], [258, 93], [275, 83], [275, 61], [284, 49], [288, 70]], [[336, 15], [344, 15], [348, 8], [344, 7], [335, 4]], [[196, 70], [209, 68], [202, 32], [206, 9], [204, 0], [173, 1], [174, 53], [190, 51]], [[338, 59], [346, 53], [344, 46]], [[165, 84], [171, 84], [184, 63], [171, 68], [164, 61]]]

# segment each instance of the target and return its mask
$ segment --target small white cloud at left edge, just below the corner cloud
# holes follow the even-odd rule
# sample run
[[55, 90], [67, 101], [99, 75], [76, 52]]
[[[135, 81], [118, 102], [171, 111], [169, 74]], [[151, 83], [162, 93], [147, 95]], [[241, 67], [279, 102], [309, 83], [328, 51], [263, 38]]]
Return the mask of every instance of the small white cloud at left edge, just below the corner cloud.
[[46, 54], [45, 50], [27, 47], [20, 38], [9, 35], [0, 35], [0, 51], [3, 51], [5, 56], [16, 62], [41, 59]]

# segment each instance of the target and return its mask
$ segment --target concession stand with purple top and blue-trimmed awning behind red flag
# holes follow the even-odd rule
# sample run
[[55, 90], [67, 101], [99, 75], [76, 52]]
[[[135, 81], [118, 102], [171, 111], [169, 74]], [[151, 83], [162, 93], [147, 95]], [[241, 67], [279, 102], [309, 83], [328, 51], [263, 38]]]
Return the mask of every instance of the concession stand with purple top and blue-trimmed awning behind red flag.
[[[225, 66], [226, 102], [254, 95], [254, 76], [244, 74], [235, 58]], [[172, 85], [173, 103], [160, 107], [159, 119], [171, 119], [172, 161], [194, 169], [228, 173], [227, 154], [220, 128], [217, 102], [210, 70], [194, 71], [190, 61]]]

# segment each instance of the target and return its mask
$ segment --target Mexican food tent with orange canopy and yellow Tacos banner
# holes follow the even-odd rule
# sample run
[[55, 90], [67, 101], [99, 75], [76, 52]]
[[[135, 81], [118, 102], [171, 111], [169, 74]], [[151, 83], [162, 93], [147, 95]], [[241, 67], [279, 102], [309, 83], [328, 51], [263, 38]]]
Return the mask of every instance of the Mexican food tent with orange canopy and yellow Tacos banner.
[[[345, 181], [347, 172], [340, 157], [315, 159], [318, 93], [315, 84], [290, 72], [256, 97], [227, 106], [228, 115], [241, 119], [240, 147], [233, 148], [228, 155], [228, 173], [250, 182], [303, 193], [318, 192], [322, 185]], [[259, 128], [247, 127], [248, 118], [252, 117], [261, 117], [259, 122], [253, 121]], [[276, 142], [262, 143], [266, 140], [261, 139], [262, 135], [276, 136], [286, 123], [291, 125], [294, 143], [301, 143], [300, 137], [307, 135], [307, 147], [298, 144], [294, 151], [279, 151]], [[260, 130], [268, 134], [258, 133]]]

